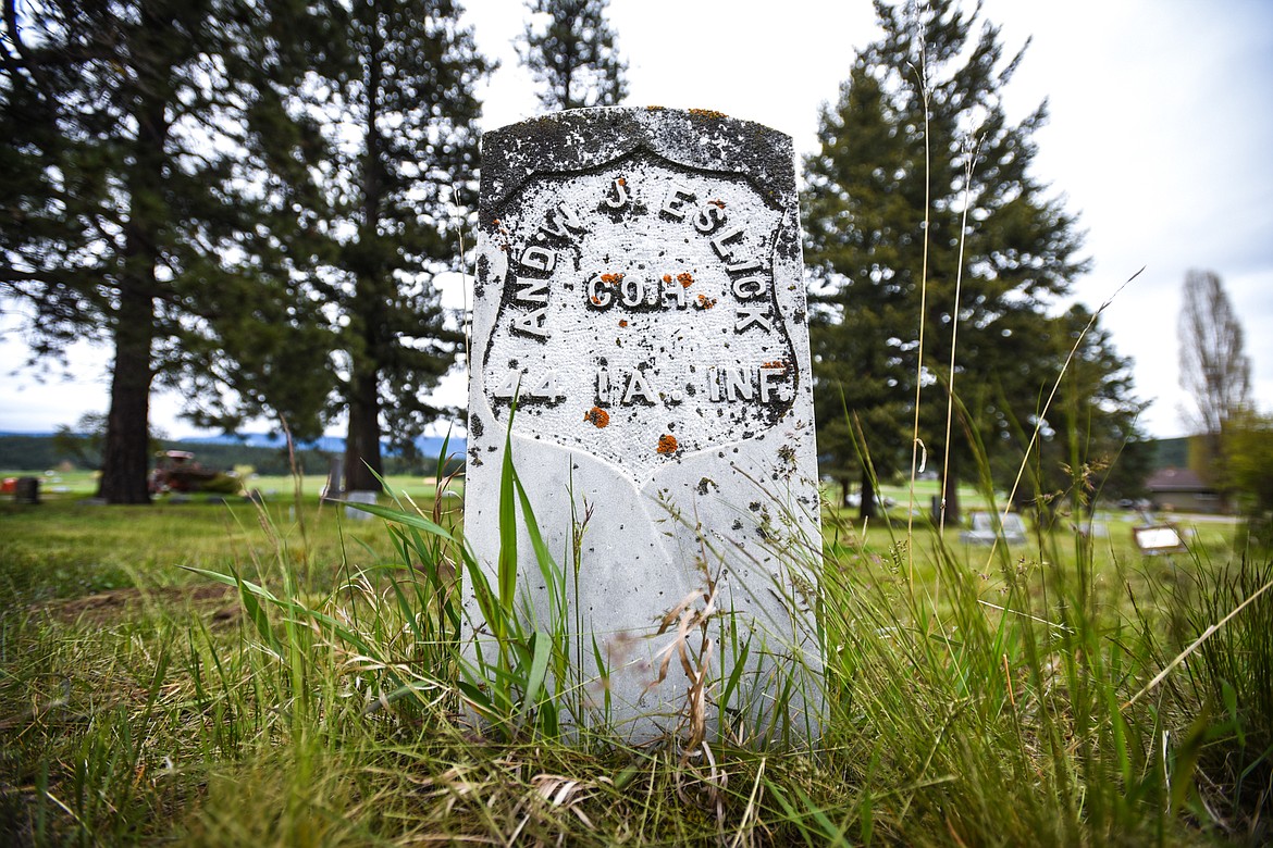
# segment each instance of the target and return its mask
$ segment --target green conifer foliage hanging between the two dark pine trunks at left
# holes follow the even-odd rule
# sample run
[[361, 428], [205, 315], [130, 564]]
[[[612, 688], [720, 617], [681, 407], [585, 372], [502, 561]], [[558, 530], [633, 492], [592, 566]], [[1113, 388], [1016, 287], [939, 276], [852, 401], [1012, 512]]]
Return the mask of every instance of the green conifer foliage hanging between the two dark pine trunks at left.
[[346, 60], [349, 18], [342, 4], [271, 8], [272, 37], [285, 50], [262, 69], [272, 85], [243, 116], [244, 155], [236, 168], [247, 198], [236, 207], [244, 217], [237, 243], [251, 262], [222, 275], [202, 320], [187, 328], [179, 388], [188, 398], [186, 417], [199, 426], [233, 432], [264, 418], [275, 432], [304, 441], [322, 435], [339, 402], [337, 328], [322, 278], [335, 247], [317, 177], [330, 168], [332, 150], [320, 103], [303, 81]]

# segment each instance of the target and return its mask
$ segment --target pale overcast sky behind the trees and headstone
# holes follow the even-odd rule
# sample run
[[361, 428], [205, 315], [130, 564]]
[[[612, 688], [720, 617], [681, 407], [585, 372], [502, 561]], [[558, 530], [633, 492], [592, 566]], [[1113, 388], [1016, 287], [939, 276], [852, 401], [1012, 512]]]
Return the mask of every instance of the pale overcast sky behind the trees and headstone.
[[[971, 4], [967, 4], [971, 8]], [[1092, 271], [1077, 300], [1100, 306], [1139, 268], [1102, 320], [1136, 361], [1155, 436], [1185, 432], [1176, 317], [1189, 268], [1216, 271], [1246, 329], [1254, 398], [1273, 411], [1273, 3], [1268, 0], [985, 0], [1007, 52], [1031, 38], [1011, 86], [1017, 117], [1044, 98], [1036, 175], [1087, 231]], [[484, 128], [536, 112], [509, 42], [522, 0], [470, 0], [484, 52], [502, 62], [484, 92]], [[759, 121], [815, 147], [854, 51], [878, 36], [868, 0], [611, 0], [630, 64], [631, 106], [696, 107]], [[76, 380], [41, 384], [11, 317], [0, 317], [0, 431], [43, 431], [104, 412], [109, 352], [76, 350]], [[462, 403], [451, 380], [451, 402]], [[169, 435], [176, 398], [157, 395]], [[264, 427], [262, 427], [264, 428]]]

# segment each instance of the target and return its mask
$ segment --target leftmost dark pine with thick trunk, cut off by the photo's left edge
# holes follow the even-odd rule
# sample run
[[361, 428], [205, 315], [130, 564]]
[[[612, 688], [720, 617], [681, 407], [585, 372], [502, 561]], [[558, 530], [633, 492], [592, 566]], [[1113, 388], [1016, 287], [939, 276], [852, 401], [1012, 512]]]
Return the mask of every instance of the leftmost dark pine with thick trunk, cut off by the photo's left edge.
[[258, 214], [285, 207], [244, 193], [266, 155], [255, 142], [276, 136], [247, 127], [281, 114], [306, 6], [4, 5], [0, 286], [29, 319], [33, 357], [78, 338], [113, 347], [98, 495], [144, 503], [154, 380], [192, 365], [182, 339], [222, 284], [276, 254]]

